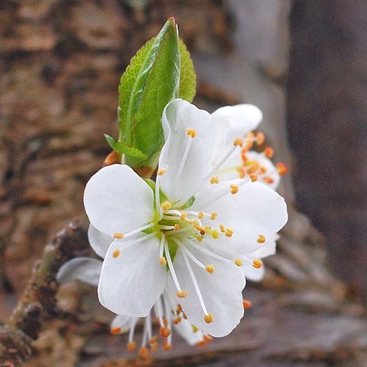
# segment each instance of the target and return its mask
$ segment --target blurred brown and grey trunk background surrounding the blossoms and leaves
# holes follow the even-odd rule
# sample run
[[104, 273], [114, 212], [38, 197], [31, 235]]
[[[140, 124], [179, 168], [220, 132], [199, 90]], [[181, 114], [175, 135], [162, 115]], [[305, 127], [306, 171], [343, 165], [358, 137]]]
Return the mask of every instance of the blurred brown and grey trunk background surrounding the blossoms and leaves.
[[[151, 366], [367, 366], [365, 0], [1, 0], [0, 321], [46, 242], [83, 215], [103, 134], [117, 134], [120, 76], [170, 16], [194, 102], [263, 111], [289, 167], [290, 220], [235, 332], [205, 349], [176, 338]], [[60, 299], [67, 317], [47, 321], [26, 366], [136, 366], [95, 290], [69, 285]]]

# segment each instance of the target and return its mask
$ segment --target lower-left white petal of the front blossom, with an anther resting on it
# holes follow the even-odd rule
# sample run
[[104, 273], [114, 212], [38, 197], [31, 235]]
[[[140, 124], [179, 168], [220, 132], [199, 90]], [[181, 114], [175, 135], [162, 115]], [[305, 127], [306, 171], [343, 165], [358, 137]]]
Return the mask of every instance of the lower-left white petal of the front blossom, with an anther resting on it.
[[[119, 250], [117, 257], [113, 256]], [[145, 317], [160, 297], [166, 269], [159, 262], [159, 241], [116, 240], [107, 251], [98, 284], [102, 305], [119, 315]]]

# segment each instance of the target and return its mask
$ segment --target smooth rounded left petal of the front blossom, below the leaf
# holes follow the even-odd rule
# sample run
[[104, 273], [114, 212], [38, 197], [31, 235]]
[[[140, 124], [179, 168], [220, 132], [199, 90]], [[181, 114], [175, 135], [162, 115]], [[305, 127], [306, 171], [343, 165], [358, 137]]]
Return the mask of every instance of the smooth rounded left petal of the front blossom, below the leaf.
[[150, 222], [153, 191], [129, 166], [113, 164], [88, 181], [84, 206], [93, 227], [113, 237]]

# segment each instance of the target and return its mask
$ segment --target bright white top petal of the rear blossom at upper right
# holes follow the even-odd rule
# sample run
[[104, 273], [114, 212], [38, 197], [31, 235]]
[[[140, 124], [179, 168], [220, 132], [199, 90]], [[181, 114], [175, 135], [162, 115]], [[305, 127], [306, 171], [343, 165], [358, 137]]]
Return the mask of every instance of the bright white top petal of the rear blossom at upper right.
[[256, 129], [262, 120], [261, 110], [251, 104], [221, 107], [212, 116], [218, 129], [217, 136], [225, 138], [222, 140], [225, 145], [231, 145], [233, 139], [241, 138]]

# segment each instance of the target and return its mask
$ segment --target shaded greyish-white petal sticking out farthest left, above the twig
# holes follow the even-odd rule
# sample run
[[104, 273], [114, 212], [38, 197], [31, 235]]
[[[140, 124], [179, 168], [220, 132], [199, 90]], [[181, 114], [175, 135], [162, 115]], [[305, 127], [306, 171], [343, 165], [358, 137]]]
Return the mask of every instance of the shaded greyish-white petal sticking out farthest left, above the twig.
[[87, 284], [97, 286], [101, 268], [102, 261], [100, 260], [89, 257], [75, 257], [61, 266], [56, 275], [56, 280], [59, 283], [81, 280]]

